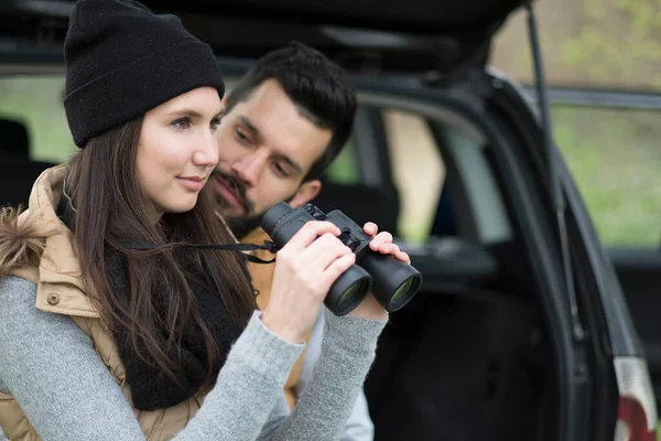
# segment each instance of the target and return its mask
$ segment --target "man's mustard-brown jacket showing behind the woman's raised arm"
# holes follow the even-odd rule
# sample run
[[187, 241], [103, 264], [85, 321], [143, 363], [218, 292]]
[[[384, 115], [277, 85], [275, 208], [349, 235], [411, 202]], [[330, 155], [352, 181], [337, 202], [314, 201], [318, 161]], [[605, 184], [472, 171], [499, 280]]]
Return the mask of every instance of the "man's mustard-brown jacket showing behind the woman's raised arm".
[[[264, 240], [270, 240], [269, 235], [261, 228], [257, 228], [248, 236], [246, 236], [241, 241], [243, 244], [256, 244], [262, 245]], [[267, 250], [252, 251], [252, 255], [259, 257], [262, 260], [271, 260], [273, 255]], [[248, 263], [248, 270], [250, 271], [250, 276], [252, 277], [252, 284], [254, 289], [259, 292], [257, 297], [257, 304], [260, 310], [264, 310], [267, 304], [269, 304], [269, 300], [271, 299], [271, 284], [273, 284], [273, 273], [275, 272], [275, 263], [271, 265], [262, 265], [262, 263]], [[306, 335], [305, 341], [310, 340], [310, 333]], [[299, 383], [299, 377], [301, 376], [301, 366], [303, 365], [303, 358], [305, 357], [305, 351], [301, 354], [292, 372], [284, 385], [284, 395], [290, 407], [294, 407], [296, 404], [296, 392], [295, 386]]]

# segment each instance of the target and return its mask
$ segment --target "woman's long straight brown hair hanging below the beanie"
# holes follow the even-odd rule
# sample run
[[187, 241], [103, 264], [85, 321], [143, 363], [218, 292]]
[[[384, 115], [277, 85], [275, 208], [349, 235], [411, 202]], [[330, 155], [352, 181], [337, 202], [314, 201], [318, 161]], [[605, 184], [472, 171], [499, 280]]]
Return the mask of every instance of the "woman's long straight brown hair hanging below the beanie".
[[[93, 138], [69, 162], [67, 194], [75, 206], [75, 240], [84, 282], [110, 325], [128, 330], [128, 342], [142, 356], [173, 380], [177, 365], [166, 354], [178, 347], [186, 323], [202, 330], [209, 369], [205, 385], [215, 381], [219, 365], [209, 323], [205, 323], [186, 281], [193, 270], [202, 275], [230, 316], [245, 326], [256, 308], [254, 294], [242, 259], [228, 251], [175, 250], [176, 243], [226, 244], [230, 234], [215, 213], [213, 189], [205, 186], [193, 209], [163, 215], [153, 225], [148, 216], [153, 208], [137, 180], [137, 149], [142, 118], [131, 120]], [[127, 243], [147, 243], [149, 251], [128, 249]], [[127, 262], [129, 297], [112, 292], [108, 251], [119, 252]], [[165, 308], [153, 295], [155, 287], [167, 287]], [[165, 316], [159, 314], [164, 311]], [[166, 341], [161, 329], [169, 331]]]

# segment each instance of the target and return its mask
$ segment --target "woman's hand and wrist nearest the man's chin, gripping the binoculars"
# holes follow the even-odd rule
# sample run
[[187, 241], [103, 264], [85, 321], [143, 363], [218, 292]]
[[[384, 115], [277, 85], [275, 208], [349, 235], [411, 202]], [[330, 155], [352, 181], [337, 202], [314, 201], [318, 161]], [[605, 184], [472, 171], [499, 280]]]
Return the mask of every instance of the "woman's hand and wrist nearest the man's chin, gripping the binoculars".
[[356, 262], [339, 234], [329, 222], [308, 222], [278, 251], [262, 322], [280, 337], [303, 343], [330, 286]]

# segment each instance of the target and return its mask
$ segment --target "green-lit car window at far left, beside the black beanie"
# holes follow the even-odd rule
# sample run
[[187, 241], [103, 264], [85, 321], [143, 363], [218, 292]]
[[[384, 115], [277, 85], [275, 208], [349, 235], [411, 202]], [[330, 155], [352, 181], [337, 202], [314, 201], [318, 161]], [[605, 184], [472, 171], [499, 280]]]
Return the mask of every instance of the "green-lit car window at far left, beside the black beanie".
[[0, 118], [25, 126], [32, 161], [62, 163], [75, 151], [63, 95], [63, 75], [0, 77]]

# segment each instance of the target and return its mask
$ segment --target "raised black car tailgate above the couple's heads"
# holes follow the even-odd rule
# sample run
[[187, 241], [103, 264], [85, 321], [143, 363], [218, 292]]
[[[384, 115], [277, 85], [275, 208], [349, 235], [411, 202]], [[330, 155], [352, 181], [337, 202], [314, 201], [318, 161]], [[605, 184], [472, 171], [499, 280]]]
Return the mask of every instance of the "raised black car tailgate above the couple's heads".
[[[10, 0], [0, 37], [62, 44], [74, 0]], [[143, 0], [172, 12], [224, 56], [257, 58], [291, 41], [348, 69], [456, 75], [484, 66], [495, 33], [522, 0]]]

